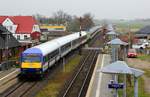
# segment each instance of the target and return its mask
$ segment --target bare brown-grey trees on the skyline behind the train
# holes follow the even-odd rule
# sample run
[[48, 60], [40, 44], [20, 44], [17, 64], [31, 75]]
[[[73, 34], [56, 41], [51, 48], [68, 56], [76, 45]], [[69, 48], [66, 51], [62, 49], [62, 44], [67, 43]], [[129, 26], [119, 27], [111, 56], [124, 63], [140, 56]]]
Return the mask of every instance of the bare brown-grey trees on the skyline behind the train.
[[59, 10], [51, 17], [45, 17], [40, 14], [34, 15], [40, 24], [52, 24], [52, 25], [65, 25], [69, 32], [76, 32], [81, 30], [89, 30], [94, 26], [93, 16], [91, 13], [85, 13], [83, 16], [72, 16], [62, 10]]

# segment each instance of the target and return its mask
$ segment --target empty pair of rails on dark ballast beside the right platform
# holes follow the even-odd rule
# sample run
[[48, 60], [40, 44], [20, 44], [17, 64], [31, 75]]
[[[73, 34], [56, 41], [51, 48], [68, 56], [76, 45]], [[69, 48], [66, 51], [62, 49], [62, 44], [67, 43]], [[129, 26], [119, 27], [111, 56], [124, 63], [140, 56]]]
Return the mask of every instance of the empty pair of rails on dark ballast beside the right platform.
[[[97, 52], [96, 51], [93, 52], [93, 50], [90, 50], [90, 52], [88, 53], [88, 56], [85, 58], [85, 60], [81, 64], [81, 67], [79, 68], [79, 70], [77, 71], [73, 79], [71, 80], [69, 86], [67, 87], [62, 97], [69, 97], [68, 95], [70, 95], [69, 93], [71, 93], [72, 91], [73, 92], [78, 91], [76, 92], [77, 96], [75, 95], [70, 95], [70, 96], [81, 97], [84, 87], [86, 85], [86, 82], [89, 80], [88, 78], [92, 69], [92, 65], [94, 65], [96, 56], [97, 56]], [[81, 87], [78, 87], [78, 85], [76, 85], [76, 82], [78, 80], [80, 80], [80, 82], [82, 81], [81, 84], [79, 85]], [[73, 88], [79, 88], [79, 89], [76, 89], [74, 91], [72, 90]]]

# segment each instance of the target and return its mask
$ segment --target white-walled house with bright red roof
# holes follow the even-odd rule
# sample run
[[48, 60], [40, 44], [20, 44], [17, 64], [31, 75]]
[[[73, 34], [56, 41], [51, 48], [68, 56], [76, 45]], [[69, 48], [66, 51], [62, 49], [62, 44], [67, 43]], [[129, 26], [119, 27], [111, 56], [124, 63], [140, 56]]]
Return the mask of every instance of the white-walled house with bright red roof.
[[19, 41], [40, 38], [40, 27], [32, 16], [0, 16], [0, 24]]

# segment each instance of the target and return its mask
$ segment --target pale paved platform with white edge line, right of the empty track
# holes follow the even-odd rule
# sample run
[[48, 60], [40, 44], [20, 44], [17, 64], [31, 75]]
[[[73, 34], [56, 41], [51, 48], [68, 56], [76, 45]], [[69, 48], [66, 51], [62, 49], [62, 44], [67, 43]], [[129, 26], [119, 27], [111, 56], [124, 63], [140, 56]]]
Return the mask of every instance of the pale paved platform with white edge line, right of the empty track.
[[112, 80], [112, 75], [103, 74], [99, 71], [102, 67], [109, 65], [110, 61], [111, 57], [108, 54], [98, 56], [86, 97], [113, 97], [113, 91], [108, 89], [108, 83]]

